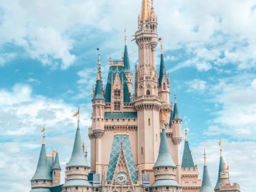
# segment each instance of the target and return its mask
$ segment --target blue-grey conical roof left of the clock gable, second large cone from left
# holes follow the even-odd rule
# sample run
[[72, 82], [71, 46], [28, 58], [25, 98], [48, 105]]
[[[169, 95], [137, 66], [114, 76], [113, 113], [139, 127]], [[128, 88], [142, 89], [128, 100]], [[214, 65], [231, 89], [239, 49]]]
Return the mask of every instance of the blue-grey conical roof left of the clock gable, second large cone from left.
[[73, 151], [72, 151], [72, 155], [68, 163], [68, 166], [90, 167], [87, 163], [87, 159], [85, 158], [85, 154], [82, 149], [82, 137], [81, 137], [79, 127], [75, 134], [75, 142], [74, 142]]

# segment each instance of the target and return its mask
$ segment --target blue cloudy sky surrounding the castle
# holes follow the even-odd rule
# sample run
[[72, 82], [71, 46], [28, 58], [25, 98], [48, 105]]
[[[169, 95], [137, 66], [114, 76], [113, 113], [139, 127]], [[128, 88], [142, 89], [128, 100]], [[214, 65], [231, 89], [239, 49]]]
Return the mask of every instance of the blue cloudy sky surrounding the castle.
[[[58, 149], [64, 170], [78, 106], [89, 147], [96, 48], [101, 48], [105, 80], [110, 56], [122, 58], [124, 28], [132, 40], [140, 7], [140, 0], [1, 0], [1, 189], [29, 191], [43, 124], [48, 152]], [[215, 185], [221, 138], [231, 181], [242, 191], [255, 191], [256, 2], [158, 0], [155, 10], [171, 100], [176, 91], [194, 161], [202, 168], [206, 147]], [[137, 46], [129, 41], [128, 48], [134, 68]]]

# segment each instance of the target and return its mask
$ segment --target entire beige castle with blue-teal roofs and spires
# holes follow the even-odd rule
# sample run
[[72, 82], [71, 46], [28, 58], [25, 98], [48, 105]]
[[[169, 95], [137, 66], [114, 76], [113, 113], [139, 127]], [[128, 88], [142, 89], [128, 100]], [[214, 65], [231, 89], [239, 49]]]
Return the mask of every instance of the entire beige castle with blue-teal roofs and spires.
[[[220, 149], [218, 181], [213, 188], [204, 153], [203, 179], [188, 144], [188, 132], [180, 156], [181, 123], [175, 94], [169, 100], [170, 82], [161, 46], [159, 73], [155, 68], [158, 20], [154, 1], [142, 0], [138, 30], [134, 40], [139, 49], [135, 74], [129, 65], [127, 37], [122, 60], [110, 59], [106, 87], [103, 89], [100, 54], [97, 80], [92, 97], [92, 126], [89, 128], [90, 165], [80, 134], [79, 120], [65, 183], [60, 184], [58, 152], [46, 155], [43, 136], [31, 192], [240, 192], [231, 184], [228, 166]], [[133, 91], [134, 77], [134, 91]], [[217, 174], [217, 173], [216, 173]]]

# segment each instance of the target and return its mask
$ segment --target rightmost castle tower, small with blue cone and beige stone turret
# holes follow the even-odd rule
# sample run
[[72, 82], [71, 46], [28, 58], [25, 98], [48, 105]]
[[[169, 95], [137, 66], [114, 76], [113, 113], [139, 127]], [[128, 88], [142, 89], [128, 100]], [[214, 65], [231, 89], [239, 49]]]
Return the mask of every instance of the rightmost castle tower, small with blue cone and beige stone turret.
[[215, 192], [240, 192], [238, 183], [230, 183], [229, 168], [223, 159], [220, 141], [220, 164], [218, 171], [218, 181], [214, 188]]

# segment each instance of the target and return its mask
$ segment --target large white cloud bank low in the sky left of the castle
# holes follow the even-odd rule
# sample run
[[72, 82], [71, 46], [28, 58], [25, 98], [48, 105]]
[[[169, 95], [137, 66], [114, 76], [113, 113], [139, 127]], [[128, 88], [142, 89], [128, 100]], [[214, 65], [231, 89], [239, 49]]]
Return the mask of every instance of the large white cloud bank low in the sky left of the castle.
[[[46, 125], [47, 151], [58, 149], [62, 174], [72, 151], [77, 124], [73, 113], [77, 107], [32, 92], [30, 86], [21, 84], [12, 90], [0, 90], [0, 132], [4, 135], [0, 142], [0, 156], [4, 156], [0, 159], [0, 188], [7, 192], [25, 192], [31, 188], [30, 179], [36, 171], [43, 124]], [[80, 127], [87, 146], [90, 143], [87, 127], [91, 123], [88, 107], [80, 107]], [[15, 179], [14, 173], [19, 173]]]

